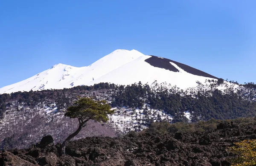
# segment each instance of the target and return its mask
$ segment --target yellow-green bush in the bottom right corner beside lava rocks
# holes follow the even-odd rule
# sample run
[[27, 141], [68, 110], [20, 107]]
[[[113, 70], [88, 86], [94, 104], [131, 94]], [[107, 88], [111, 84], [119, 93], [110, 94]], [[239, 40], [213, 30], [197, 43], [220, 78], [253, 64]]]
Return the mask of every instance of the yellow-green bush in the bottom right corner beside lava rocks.
[[244, 140], [235, 143], [231, 147], [236, 157], [232, 160], [231, 166], [255, 166], [256, 165], [256, 140]]

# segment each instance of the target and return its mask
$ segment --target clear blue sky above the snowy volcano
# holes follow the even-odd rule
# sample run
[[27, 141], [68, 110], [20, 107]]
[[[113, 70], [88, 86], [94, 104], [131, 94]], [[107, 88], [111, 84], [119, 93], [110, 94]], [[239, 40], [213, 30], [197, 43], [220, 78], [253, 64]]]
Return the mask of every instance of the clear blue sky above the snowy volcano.
[[256, 82], [255, 0], [2, 0], [0, 87], [136, 49]]

